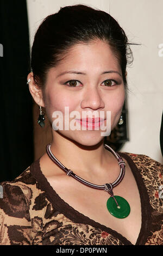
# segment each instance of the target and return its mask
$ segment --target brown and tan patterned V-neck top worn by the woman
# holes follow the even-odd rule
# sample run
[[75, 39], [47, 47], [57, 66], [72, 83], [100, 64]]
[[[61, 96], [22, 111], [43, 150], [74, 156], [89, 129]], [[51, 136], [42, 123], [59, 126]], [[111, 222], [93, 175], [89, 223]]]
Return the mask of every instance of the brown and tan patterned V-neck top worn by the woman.
[[[136, 245], [163, 245], [163, 166], [146, 155], [118, 154], [128, 162], [141, 198]], [[42, 174], [39, 160], [0, 184], [0, 245], [132, 245], [64, 202]]]

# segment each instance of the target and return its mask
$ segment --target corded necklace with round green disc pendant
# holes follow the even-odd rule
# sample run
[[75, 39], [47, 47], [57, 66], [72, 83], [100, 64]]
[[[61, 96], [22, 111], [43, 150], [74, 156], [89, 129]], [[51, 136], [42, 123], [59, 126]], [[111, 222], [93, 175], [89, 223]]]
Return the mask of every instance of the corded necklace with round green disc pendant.
[[71, 169], [66, 168], [52, 153], [51, 151], [51, 144], [47, 144], [46, 151], [49, 156], [49, 158], [58, 166], [64, 170], [64, 172], [68, 176], [72, 176], [74, 179], [78, 180], [79, 182], [82, 182], [84, 185], [96, 188], [98, 190], [104, 190], [110, 194], [110, 198], [106, 202], [106, 207], [108, 208], [108, 211], [110, 214], [116, 218], [126, 218], [130, 214], [130, 205], [127, 202], [126, 199], [120, 196], [114, 196], [114, 193], [112, 192], [113, 188], [117, 186], [123, 179], [124, 173], [125, 173], [125, 162], [122, 160], [122, 157], [118, 155], [112, 148], [110, 148], [108, 145], [104, 144], [104, 147], [111, 151], [112, 154], [116, 157], [118, 161], [118, 165], [121, 166], [121, 172], [118, 178], [112, 182], [112, 183], [106, 183], [104, 185], [96, 185], [92, 184], [89, 181], [86, 181], [82, 178], [80, 178], [78, 175], [74, 174]]

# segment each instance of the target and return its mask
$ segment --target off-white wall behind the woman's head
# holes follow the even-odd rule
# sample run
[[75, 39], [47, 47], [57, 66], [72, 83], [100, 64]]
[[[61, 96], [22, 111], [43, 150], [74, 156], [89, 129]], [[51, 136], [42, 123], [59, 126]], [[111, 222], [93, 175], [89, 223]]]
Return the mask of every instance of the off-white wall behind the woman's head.
[[121, 151], [145, 154], [163, 163], [160, 150], [163, 50], [159, 48], [163, 44], [163, 1], [27, 0], [30, 44], [47, 15], [56, 13], [60, 7], [78, 3], [110, 13], [120, 23], [129, 41], [141, 44], [131, 46], [134, 62], [127, 69], [129, 141]]

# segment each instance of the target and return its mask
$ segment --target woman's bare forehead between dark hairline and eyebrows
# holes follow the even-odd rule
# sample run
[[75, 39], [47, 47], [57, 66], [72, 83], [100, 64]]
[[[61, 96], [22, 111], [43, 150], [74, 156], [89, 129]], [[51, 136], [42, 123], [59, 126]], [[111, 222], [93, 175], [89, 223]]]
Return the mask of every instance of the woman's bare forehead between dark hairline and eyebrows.
[[64, 70], [81, 69], [81, 71], [101, 72], [106, 68], [121, 71], [115, 52], [107, 42], [93, 40], [89, 43], [81, 42], [72, 46], [62, 56], [61, 61], [53, 69], [58, 73]]

